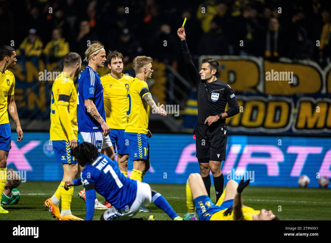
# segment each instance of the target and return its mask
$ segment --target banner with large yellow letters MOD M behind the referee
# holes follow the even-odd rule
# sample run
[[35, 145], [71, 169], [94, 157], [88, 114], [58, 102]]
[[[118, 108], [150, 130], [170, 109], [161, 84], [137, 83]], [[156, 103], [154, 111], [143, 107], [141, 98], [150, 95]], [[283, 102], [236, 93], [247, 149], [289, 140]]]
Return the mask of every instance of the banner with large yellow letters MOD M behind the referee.
[[[226, 119], [233, 132], [330, 135], [331, 64], [322, 69], [309, 60], [270, 62], [238, 56], [201, 56], [199, 64], [204, 58], [218, 60], [218, 78], [229, 83], [237, 97], [240, 113]], [[190, 99], [184, 128], [196, 125], [196, 97]]]

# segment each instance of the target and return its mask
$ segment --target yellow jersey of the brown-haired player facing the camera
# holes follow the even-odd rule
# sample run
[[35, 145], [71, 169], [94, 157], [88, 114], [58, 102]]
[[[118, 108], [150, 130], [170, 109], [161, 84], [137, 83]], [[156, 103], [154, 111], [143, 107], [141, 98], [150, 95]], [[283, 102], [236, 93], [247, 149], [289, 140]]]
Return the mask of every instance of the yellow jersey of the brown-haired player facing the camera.
[[114, 78], [110, 73], [100, 77], [103, 86], [106, 122], [111, 129], [125, 129], [127, 90], [134, 78], [122, 74]]

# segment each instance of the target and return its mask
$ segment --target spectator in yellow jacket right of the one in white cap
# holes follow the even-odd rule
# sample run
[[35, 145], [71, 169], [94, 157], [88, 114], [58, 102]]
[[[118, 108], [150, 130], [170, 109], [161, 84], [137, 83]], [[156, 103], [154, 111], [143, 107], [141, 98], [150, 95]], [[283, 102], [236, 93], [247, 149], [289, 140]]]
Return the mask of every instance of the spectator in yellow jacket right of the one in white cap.
[[56, 61], [69, 53], [69, 43], [62, 38], [60, 29], [53, 30], [52, 40], [47, 43], [43, 53], [49, 61]]

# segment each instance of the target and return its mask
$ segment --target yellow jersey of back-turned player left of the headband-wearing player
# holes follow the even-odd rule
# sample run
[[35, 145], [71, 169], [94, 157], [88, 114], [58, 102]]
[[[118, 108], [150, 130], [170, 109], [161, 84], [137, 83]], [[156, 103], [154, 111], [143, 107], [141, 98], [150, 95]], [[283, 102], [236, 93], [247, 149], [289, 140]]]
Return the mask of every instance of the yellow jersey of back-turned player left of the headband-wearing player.
[[[69, 96], [69, 101], [59, 101], [59, 95]], [[64, 105], [68, 107], [71, 123], [65, 125], [71, 126], [71, 129], [73, 131], [73, 135], [71, 136], [65, 132], [65, 128], [60, 121], [58, 108], [59, 105]], [[77, 132], [77, 91], [71, 77], [66, 73], [61, 72], [61, 75], [57, 76], [52, 86], [50, 139], [54, 141], [71, 141], [73, 139], [77, 139]]]

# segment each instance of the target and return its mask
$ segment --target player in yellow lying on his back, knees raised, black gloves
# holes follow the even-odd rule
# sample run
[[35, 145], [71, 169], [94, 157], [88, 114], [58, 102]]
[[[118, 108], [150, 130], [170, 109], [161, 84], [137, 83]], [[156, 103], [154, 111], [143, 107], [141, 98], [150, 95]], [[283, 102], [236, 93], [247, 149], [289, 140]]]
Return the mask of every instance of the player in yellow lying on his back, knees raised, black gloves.
[[229, 181], [215, 205], [207, 194], [202, 177], [198, 173], [191, 174], [186, 183], [188, 213], [184, 220], [196, 220], [195, 208], [199, 220], [279, 220], [271, 210], [260, 211], [243, 205], [241, 193], [248, 183], [249, 180], [242, 180], [239, 185]]

